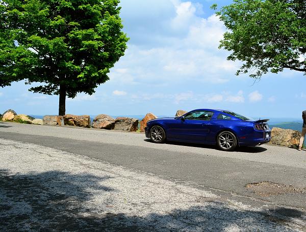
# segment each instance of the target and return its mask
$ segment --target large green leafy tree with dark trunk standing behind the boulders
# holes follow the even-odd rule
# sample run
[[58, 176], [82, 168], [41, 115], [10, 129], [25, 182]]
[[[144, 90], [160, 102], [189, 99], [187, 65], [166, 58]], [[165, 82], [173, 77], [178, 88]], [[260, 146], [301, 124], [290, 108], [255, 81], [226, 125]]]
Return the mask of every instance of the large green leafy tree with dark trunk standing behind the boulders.
[[0, 86], [25, 80], [30, 91], [93, 94], [124, 54], [119, 0], [0, 0]]

